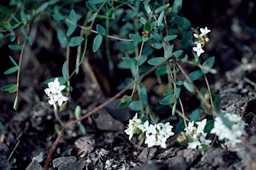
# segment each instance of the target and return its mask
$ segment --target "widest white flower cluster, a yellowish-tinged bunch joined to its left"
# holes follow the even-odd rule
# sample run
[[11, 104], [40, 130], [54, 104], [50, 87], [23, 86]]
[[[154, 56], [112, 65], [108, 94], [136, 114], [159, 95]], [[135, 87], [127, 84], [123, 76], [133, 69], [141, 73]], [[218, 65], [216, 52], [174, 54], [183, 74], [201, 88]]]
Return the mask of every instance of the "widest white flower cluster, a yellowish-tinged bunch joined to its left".
[[125, 129], [125, 133], [129, 135], [129, 139], [133, 137], [135, 133], [145, 133], [145, 144], [147, 147], [152, 147], [154, 145], [161, 145], [161, 147], [166, 148], [166, 141], [169, 137], [174, 135], [171, 131], [173, 126], [170, 126], [170, 123], [167, 122], [166, 124], [159, 123], [159, 124], [150, 124], [149, 121], [146, 121], [142, 124], [141, 120], [137, 118], [137, 114], [132, 120], [129, 120], [129, 126]]

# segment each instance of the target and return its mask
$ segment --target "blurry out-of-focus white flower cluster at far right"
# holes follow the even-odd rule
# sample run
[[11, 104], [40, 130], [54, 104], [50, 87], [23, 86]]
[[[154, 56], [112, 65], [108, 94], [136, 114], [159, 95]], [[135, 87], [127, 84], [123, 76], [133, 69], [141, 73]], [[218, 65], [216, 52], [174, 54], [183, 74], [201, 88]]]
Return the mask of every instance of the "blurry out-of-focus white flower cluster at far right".
[[231, 124], [231, 129], [227, 128], [223, 123], [221, 118], [217, 117], [214, 121], [214, 127], [211, 129], [211, 133], [215, 133], [219, 140], [227, 139], [225, 145], [231, 145], [235, 147], [237, 143], [241, 143], [241, 135], [246, 135], [245, 126], [247, 124], [242, 120], [242, 118], [237, 114], [225, 114], [225, 117], [229, 120]]

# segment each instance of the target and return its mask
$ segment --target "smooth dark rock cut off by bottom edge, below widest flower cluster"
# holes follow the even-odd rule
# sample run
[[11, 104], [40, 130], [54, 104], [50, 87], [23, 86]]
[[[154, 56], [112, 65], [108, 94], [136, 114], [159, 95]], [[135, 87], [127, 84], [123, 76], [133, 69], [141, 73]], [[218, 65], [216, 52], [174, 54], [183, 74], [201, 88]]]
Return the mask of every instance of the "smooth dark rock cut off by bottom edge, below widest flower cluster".
[[158, 163], [157, 161], [148, 161], [147, 163], [133, 168], [133, 170], [167, 170], [169, 169], [166, 163]]

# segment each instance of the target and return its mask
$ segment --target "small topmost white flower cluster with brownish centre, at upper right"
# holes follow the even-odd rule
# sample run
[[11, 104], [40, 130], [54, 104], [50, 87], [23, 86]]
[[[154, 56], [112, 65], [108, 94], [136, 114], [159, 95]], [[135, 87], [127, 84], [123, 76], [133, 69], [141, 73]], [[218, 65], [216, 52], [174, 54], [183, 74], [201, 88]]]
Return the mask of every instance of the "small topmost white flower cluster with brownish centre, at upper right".
[[211, 32], [211, 30], [207, 29], [207, 27], [205, 27], [205, 29], [201, 28], [200, 29], [201, 34], [194, 34], [194, 37], [199, 39], [199, 41], [196, 41], [195, 44], [197, 44], [196, 47], [193, 47], [193, 50], [195, 52], [197, 52], [197, 56], [200, 56], [201, 53], [205, 52], [203, 50], [203, 46], [205, 46], [205, 44], [207, 44], [207, 42], [209, 42], [209, 38], [207, 37], [207, 34]]

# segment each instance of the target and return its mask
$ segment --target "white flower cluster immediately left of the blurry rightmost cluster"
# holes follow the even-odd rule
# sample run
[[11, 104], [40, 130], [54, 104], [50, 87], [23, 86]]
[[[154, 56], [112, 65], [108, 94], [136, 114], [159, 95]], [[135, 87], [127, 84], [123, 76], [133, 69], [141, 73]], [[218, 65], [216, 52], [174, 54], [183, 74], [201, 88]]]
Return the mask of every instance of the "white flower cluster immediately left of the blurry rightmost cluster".
[[[188, 143], [188, 148], [195, 149], [198, 146], [198, 148], [201, 149], [203, 148], [201, 144], [209, 145], [209, 143], [211, 143], [211, 140], [205, 139], [207, 133], [203, 131], [203, 129], [205, 129], [206, 122], [206, 119], [201, 122], [189, 122], [188, 127], [184, 129], [187, 135], [190, 133], [193, 137], [193, 142]], [[194, 124], [197, 124], [197, 127], [195, 127]]]

